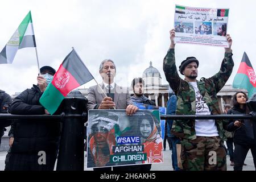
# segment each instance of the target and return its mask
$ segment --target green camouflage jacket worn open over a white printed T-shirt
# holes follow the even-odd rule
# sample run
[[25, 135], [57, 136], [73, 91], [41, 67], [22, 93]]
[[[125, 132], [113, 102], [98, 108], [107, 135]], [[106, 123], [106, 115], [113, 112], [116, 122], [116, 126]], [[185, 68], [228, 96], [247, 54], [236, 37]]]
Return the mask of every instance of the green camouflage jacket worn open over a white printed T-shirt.
[[[216, 75], [210, 78], [201, 78], [197, 81], [197, 87], [207, 103], [212, 114], [222, 114], [222, 110], [218, 105], [217, 93], [228, 81], [232, 73], [234, 62], [232, 52], [226, 52], [222, 60], [221, 68]], [[163, 71], [166, 75], [166, 80], [169, 82], [172, 90], [177, 96], [176, 114], [179, 115], [194, 115], [196, 114], [196, 96], [195, 90], [186, 80], [179, 77], [175, 65], [174, 49], [169, 49], [166, 57], [163, 60]], [[218, 134], [222, 140], [226, 140], [224, 126], [228, 124], [226, 120], [216, 120]], [[172, 133], [176, 137], [185, 139], [196, 139], [195, 119], [176, 120], [172, 125]]]

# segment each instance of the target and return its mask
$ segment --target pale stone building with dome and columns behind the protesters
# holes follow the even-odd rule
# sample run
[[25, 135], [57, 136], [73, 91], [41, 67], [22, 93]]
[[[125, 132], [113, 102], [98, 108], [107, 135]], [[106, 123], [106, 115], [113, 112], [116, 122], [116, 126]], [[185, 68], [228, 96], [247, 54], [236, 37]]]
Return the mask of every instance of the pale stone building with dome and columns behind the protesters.
[[[169, 98], [169, 85], [162, 85], [162, 76], [158, 69], [152, 66], [151, 61], [150, 66], [142, 73], [142, 78], [145, 83], [145, 96], [154, 101], [157, 106], [166, 107]], [[88, 96], [88, 89], [79, 89], [79, 91], [85, 97]], [[247, 90], [245, 89], [234, 89], [232, 88], [232, 85], [225, 85], [220, 92], [217, 93], [220, 106], [224, 108], [224, 104], [230, 104], [232, 96], [238, 91], [247, 93]], [[129, 93], [133, 95], [133, 89], [131, 87], [129, 87]]]

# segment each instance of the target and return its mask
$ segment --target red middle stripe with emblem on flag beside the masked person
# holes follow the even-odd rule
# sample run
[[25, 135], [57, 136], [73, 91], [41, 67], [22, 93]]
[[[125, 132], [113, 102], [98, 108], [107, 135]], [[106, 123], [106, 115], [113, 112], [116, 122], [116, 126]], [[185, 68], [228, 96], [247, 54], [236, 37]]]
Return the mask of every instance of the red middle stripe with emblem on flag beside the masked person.
[[52, 80], [52, 85], [56, 87], [60, 91], [63, 96], [67, 96], [67, 94], [80, 86], [80, 84], [76, 81], [76, 78], [72, 76], [70, 72], [67, 71], [63, 67], [63, 65], [60, 65], [60, 68], [55, 73], [55, 76]]

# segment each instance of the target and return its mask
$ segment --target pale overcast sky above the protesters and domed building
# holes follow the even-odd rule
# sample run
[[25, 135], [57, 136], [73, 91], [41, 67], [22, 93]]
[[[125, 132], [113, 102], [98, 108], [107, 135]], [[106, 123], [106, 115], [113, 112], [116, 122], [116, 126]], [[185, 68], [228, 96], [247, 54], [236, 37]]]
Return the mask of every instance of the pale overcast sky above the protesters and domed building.
[[[40, 67], [50, 65], [57, 70], [75, 47], [98, 82], [101, 61], [112, 59], [119, 85], [128, 86], [134, 77], [141, 77], [150, 61], [160, 71], [162, 84], [167, 84], [162, 63], [170, 45], [169, 30], [174, 27], [175, 4], [229, 8], [228, 33], [233, 39], [235, 66], [228, 84], [233, 82], [244, 51], [256, 69], [256, 2], [249, 0], [2, 1], [0, 49], [31, 10]], [[188, 56], [200, 61], [199, 77], [210, 77], [220, 68], [224, 48], [177, 44], [177, 65]], [[13, 64], [0, 64], [0, 89], [9, 94], [22, 92], [36, 83], [37, 74], [35, 48], [20, 49]], [[90, 81], [80, 88], [94, 84]]]

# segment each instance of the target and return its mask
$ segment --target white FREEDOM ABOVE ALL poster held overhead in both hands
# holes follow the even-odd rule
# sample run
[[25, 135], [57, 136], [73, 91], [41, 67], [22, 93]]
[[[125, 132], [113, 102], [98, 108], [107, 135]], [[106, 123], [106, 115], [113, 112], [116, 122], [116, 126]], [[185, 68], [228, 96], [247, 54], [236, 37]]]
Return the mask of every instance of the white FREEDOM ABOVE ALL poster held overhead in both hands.
[[229, 9], [175, 5], [175, 42], [228, 47]]

